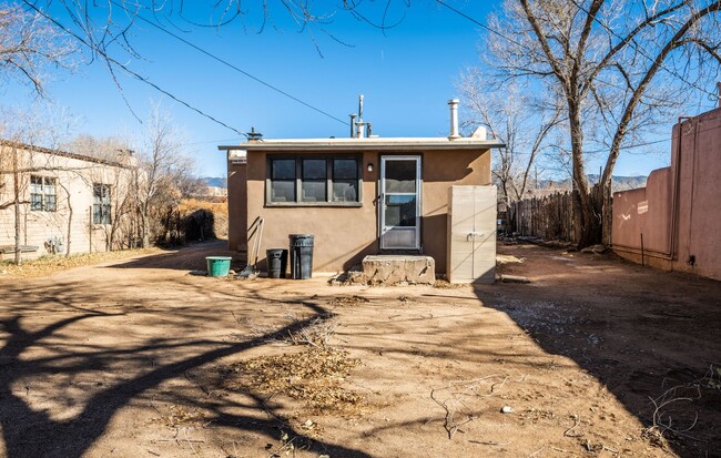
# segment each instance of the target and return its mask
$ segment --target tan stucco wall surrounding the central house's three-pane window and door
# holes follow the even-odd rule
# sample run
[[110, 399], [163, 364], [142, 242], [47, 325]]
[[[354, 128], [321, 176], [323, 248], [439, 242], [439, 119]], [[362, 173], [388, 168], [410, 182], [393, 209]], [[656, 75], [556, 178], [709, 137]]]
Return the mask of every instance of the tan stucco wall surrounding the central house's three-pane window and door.
[[[296, 233], [315, 235], [314, 272], [348, 269], [359, 264], [365, 255], [377, 254], [376, 196], [382, 152], [363, 153], [363, 204], [358, 207], [268, 207], [265, 205], [266, 156], [280, 153], [248, 152], [247, 225], [252, 225], [258, 216], [265, 221], [261, 258], [265, 257], [267, 248], [286, 248], [288, 234]], [[448, 187], [454, 184], [490, 184], [490, 152], [448, 150], [403, 154], [422, 155], [423, 253], [433, 256], [436, 271], [443, 273], [446, 265]], [[367, 171], [368, 163], [374, 164], [373, 172]], [[240, 195], [238, 191], [231, 192], [229, 180], [231, 206], [236, 205], [235, 200]], [[233, 233], [233, 226], [231, 237], [240, 237]]]

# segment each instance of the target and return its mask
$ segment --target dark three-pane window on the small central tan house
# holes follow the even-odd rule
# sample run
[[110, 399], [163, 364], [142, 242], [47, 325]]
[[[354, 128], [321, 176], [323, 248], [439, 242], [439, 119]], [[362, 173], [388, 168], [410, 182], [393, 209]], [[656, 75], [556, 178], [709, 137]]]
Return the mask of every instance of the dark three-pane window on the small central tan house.
[[268, 204], [358, 204], [360, 156], [271, 156], [266, 189]]

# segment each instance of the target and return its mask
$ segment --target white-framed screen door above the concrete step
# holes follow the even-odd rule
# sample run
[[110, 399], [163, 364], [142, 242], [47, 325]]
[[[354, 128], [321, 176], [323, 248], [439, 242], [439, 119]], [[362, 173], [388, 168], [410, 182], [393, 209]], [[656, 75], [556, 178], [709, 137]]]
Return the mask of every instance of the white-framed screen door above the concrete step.
[[380, 250], [420, 250], [420, 156], [380, 157]]

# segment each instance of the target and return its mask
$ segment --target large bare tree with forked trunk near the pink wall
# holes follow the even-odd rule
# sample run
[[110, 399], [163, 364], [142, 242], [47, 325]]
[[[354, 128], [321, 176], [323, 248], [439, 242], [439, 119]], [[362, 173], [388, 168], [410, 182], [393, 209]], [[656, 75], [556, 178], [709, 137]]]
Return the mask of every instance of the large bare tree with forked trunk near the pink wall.
[[[611, 177], [623, 145], [668, 123], [719, 74], [720, 10], [721, 1], [707, 0], [506, 0], [491, 18], [497, 77], [561, 95], [579, 245], [610, 242]], [[596, 195], [585, 141], [608, 147]]]

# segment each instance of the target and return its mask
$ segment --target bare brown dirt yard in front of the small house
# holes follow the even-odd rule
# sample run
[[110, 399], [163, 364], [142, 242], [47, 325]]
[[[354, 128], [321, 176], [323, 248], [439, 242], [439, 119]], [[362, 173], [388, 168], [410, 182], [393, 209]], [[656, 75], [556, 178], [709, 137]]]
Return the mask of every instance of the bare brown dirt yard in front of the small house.
[[191, 273], [222, 246], [0, 275], [0, 455], [721, 456], [719, 282], [525, 245], [530, 284]]

